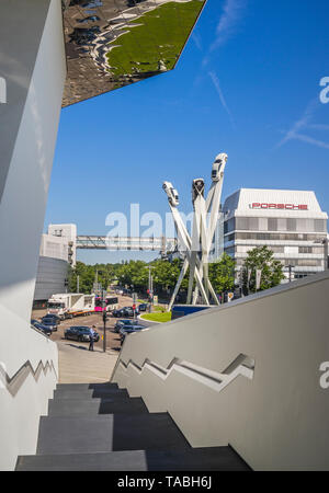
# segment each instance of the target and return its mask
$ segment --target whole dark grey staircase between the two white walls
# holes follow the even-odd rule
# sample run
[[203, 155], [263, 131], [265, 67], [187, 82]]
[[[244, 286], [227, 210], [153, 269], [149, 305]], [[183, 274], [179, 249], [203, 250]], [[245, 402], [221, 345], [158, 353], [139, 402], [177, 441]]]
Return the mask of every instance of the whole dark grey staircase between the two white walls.
[[240, 471], [231, 447], [192, 448], [168, 413], [116, 383], [60, 383], [39, 421], [35, 456], [18, 471]]

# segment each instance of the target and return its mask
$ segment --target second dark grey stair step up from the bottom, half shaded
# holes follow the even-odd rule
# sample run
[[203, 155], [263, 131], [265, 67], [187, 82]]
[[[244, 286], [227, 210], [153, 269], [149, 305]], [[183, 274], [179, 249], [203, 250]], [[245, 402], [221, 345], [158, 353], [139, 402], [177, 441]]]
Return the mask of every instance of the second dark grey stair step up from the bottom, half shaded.
[[37, 454], [185, 449], [190, 445], [169, 414], [42, 416]]

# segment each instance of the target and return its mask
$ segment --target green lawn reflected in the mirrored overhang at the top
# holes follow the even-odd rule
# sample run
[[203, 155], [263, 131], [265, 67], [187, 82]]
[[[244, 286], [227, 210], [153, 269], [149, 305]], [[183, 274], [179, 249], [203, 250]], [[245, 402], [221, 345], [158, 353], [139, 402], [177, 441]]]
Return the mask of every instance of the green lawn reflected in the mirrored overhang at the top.
[[167, 70], [172, 69], [203, 3], [166, 3], [132, 22], [129, 32], [112, 42], [115, 47], [107, 54], [110, 71], [116, 77], [158, 71], [159, 60]]

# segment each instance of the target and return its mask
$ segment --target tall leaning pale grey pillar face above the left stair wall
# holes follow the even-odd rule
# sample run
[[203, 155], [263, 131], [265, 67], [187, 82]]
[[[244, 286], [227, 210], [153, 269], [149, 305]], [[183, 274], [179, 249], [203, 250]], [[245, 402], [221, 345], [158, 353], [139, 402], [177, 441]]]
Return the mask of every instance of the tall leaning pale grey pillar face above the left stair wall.
[[[24, 0], [23, 3], [30, 7], [22, 25], [14, 25], [13, 13], [20, 11], [22, 2], [9, 2], [12, 30], [21, 38], [12, 56], [21, 57], [22, 65], [26, 62], [24, 41], [29, 38], [27, 19], [45, 2], [49, 3], [47, 22], [38, 26], [42, 31], [41, 45], [0, 207], [0, 306], [19, 313], [23, 320], [29, 320], [32, 307], [66, 65], [60, 2]], [[0, 27], [5, 20], [1, 15]], [[7, 113], [10, 113], [11, 100], [7, 104]], [[2, 125], [5, 125], [5, 118]]]

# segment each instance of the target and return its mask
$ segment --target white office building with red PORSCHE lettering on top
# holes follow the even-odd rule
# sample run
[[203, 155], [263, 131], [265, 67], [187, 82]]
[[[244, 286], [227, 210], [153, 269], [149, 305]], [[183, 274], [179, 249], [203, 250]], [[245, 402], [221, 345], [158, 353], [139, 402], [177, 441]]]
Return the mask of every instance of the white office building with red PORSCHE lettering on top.
[[236, 261], [237, 277], [249, 250], [261, 245], [274, 252], [287, 277], [290, 271], [293, 278], [324, 271], [328, 215], [314, 192], [240, 188], [222, 213], [213, 260], [225, 251]]

